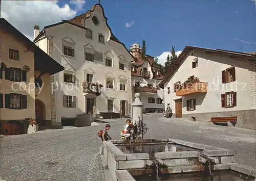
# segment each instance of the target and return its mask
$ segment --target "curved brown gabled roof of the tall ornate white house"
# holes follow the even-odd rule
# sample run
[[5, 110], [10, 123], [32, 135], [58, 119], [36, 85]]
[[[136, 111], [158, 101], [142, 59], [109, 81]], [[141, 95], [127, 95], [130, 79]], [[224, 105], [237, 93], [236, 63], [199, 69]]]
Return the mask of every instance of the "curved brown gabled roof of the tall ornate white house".
[[[87, 18], [90, 18], [91, 17], [91, 13], [95, 10], [95, 7], [96, 6], [99, 6], [101, 9], [102, 9], [102, 13], [103, 13], [103, 17], [105, 18], [105, 23], [106, 23], [106, 26], [109, 28], [109, 30], [110, 30], [110, 33], [111, 33], [111, 36], [110, 36], [110, 39], [111, 40], [113, 40], [113, 41], [115, 41], [115, 42], [117, 42], [117, 43], [120, 43], [121, 45], [123, 45], [123, 47], [127, 50], [127, 52], [130, 54], [130, 51], [125, 47], [125, 45], [121, 42], [121, 41], [119, 41], [116, 37], [115, 37], [115, 35], [112, 33], [112, 30], [111, 30], [111, 28], [110, 28], [110, 26], [109, 26], [109, 24], [108, 24], [108, 18], [106, 18], [106, 16], [105, 16], [105, 13], [104, 13], [104, 9], [103, 9], [103, 7], [101, 6], [101, 4], [95, 4], [89, 11], [87, 11], [86, 13], [83, 13], [83, 14], [81, 14], [81, 15], [79, 15], [79, 16], [76, 16], [76, 17], [74, 17], [74, 18], [72, 18], [72, 19], [69, 19], [69, 20], [62, 20], [61, 22], [58, 22], [58, 23], [55, 23], [55, 24], [51, 24], [51, 25], [48, 25], [48, 26], [46, 26], [46, 27], [44, 27], [44, 29], [42, 29], [42, 31], [39, 33], [39, 35], [34, 39], [34, 41], [33, 42], [36, 42], [39, 38], [41, 38], [43, 35], [44, 35], [44, 33], [43, 33], [43, 30], [45, 30], [45, 29], [48, 29], [48, 28], [52, 28], [52, 27], [55, 27], [55, 26], [57, 26], [57, 25], [60, 25], [60, 24], [64, 24], [64, 23], [69, 23], [69, 24], [72, 24], [72, 25], [75, 25], [76, 27], [79, 27], [79, 28], [81, 28], [81, 29], [84, 29], [84, 30], [87, 30], [87, 28], [85, 27], [85, 25], [84, 25], [84, 20], [82, 21], [82, 19], [87, 19]], [[131, 55], [131, 54], [130, 54]], [[131, 55], [132, 56], [132, 55]], [[132, 58], [134, 59], [134, 57], [132, 56]]]

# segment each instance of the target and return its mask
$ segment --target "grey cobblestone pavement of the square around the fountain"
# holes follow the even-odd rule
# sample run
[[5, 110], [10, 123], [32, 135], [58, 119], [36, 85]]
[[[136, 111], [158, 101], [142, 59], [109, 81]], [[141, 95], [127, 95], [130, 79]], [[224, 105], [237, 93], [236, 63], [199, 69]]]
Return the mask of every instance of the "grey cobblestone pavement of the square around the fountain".
[[[120, 139], [124, 120], [108, 120], [111, 124], [109, 133], [114, 139]], [[255, 131], [176, 118], [162, 119], [159, 114], [144, 116], [144, 122], [150, 128], [145, 138], [152, 135], [152, 138], [174, 138], [237, 149], [236, 162], [256, 165]], [[104, 123], [100, 124], [1, 137], [1, 179], [103, 181], [104, 173], [98, 157], [102, 142], [97, 132]]]

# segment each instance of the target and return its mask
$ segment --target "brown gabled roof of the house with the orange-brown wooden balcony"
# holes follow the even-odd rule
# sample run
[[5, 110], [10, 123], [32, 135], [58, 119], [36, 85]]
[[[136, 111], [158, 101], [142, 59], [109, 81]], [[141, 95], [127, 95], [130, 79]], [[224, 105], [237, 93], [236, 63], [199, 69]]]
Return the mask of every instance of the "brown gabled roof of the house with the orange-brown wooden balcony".
[[230, 51], [223, 49], [210, 49], [196, 46], [186, 46], [183, 49], [182, 53], [179, 55], [178, 59], [172, 64], [172, 66], [170, 66], [169, 70], [163, 77], [163, 80], [160, 82], [159, 86], [161, 88], [164, 88], [164, 84], [169, 81], [170, 77], [173, 76], [173, 73], [175, 73], [176, 70], [179, 69], [181, 63], [190, 55], [192, 51], [197, 51], [209, 55], [228, 57], [246, 62], [256, 62], [256, 55], [254, 54], [241, 53], [238, 51]]

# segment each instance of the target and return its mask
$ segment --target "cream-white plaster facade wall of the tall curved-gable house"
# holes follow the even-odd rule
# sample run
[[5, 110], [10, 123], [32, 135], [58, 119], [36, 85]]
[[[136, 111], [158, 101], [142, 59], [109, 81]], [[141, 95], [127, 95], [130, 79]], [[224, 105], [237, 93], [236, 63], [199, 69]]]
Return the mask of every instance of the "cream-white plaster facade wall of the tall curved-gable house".
[[[56, 104], [56, 121], [60, 122], [61, 117], [76, 117], [77, 113], [86, 112], [85, 101], [83, 96], [83, 90], [81, 83], [86, 79], [84, 77], [84, 70], [95, 72], [94, 80], [96, 82], [103, 83], [103, 90], [100, 96], [96, 97], [96, 108], [95, 113], [107, 112], [107, 99], [106, 97], [114, 98], [114, 112], [119, 112], [120, 110], [120, 100], [129, 101], [131, 104], [131, 65], [130, 62], [133, 60], [130, 53], [125, 50], [125, 48], [117, 42], [109, 40], [110, 32], [105, 25], [101, 8], [96, 7], [93, 14], [97, 14], [100, 20], [100, 25], [95, 26], [92, 24], [91, 18], [86, 20], [87, 27], [93, 30], [94, 39], [90, 40], [86, 38], [86, 30], [75, 27], [74, 25], [65, 23], [52, 27], [46, 30], [47, 34], [53, 36], [53, 59], [65, 67], [67, 70], [72, 70], [76, 76], [76, 86], [67, 86], [63, 83], [63, 71], [54, 75], [54, 81], [58, 82], [59, 88], [55, 92], [55, 104]], [[93, 17], [93, 15], [91, 16]], [[98, 33], [102, 33], [105, 36], [105, 44], [98, 42]], [[75, 58], [62, 56], [62, 38], [68, 37], [66, 41], [75, 42]], [[71, 40], [72, 39], [72, 40]], [[90, 43], [91, 46], [96, 51], [103, 53], [103, 62], [95, 61], [85, 61], [84, 55], [84, 45]], [[40, 46], [40, 44], [39, 44]], [[40, 47], [41, 48], [41, 47]], [[113, 56], [113, 67], [105, 66], [105, 55], [112, 54]], [[123, 55], [126, 59], [126, 70], [119, 69], [119, 58], [118, 56]], [[69, 63], [67, 63], [69, 62]], [[71, 66], [70, 66], [71, 64]], [[105, 90], [105, 75], [112, 75], [115, 78], [115, 90]], [[126, 91], [119, 91], [119, 77], [124, 77], [126, 82]], [[62, 85], [62, 86], [61, 86]], [[63, 94], [73, 95], [77, 97], [77, 107], [76, 108], [64, 108], [63, 107]]]

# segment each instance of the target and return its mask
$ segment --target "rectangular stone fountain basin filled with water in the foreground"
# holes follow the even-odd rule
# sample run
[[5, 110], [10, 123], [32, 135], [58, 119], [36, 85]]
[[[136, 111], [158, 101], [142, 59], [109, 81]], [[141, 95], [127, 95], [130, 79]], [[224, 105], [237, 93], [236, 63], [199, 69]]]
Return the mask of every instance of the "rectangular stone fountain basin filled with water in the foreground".
[[[234, 170], [255, 177], [255, 169], [233, 162], [236, 150], [174, 139], [113, 140], [100, 149], [110, 180], [135, 180], [133, 176]], [[209, 166], [206, 166], [207, 163]], [[125, 179], [124, 179], [125, 178]], [[141, 180], [141, 179], [140, 179]], [[143, 180], [143, 179], [142, 179]]]

